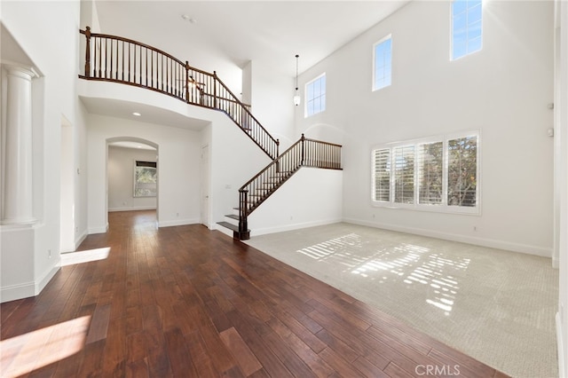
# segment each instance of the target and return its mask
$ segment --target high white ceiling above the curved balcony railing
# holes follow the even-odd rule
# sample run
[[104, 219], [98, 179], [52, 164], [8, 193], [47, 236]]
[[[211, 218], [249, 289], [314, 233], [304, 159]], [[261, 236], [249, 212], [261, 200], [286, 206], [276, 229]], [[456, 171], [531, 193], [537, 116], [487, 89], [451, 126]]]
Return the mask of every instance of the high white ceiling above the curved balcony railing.
[[[312, 67], [409, 0], [96, 0], [101, 30], [167, 51], [209, 72], [259, 62], [283, 75]], [[184, 16], [184, 17], [182, 17]]]

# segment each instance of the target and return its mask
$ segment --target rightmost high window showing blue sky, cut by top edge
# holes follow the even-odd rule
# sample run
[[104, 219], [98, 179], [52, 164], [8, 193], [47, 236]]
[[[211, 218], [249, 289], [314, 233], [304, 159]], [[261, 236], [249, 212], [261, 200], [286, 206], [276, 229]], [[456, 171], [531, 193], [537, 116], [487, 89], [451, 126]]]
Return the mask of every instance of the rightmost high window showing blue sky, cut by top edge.
[[481, 50], [481, 0], [452, 2], [452, 59]]

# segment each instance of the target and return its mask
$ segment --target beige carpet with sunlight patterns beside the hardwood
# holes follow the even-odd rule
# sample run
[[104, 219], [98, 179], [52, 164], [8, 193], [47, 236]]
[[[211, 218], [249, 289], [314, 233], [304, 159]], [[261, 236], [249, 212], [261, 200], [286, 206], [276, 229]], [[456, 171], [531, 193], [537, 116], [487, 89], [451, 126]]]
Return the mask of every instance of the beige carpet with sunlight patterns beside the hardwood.
[[549, 258], [355, 224], [247, 243], [506, 374], [558, 376]]

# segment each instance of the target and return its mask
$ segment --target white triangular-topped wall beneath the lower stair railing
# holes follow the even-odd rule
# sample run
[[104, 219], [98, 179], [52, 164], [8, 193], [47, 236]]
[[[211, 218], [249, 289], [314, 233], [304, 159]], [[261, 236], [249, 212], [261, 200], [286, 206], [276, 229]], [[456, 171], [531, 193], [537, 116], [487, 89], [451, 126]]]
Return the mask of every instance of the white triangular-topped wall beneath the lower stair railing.
[[342, 183], [342, 170], [298, 170], [248, 217], [250, 235], [341, 222]]

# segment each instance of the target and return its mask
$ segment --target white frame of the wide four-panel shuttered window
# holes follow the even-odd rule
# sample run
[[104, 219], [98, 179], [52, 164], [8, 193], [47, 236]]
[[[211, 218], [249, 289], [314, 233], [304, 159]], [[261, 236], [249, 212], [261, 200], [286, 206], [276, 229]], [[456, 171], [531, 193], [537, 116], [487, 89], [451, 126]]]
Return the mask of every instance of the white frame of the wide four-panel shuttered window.
[[[449, 141], [460, 138], [475, 137], [476, 141], [476, 204], [475, 206], [456, 206], [448, 205], [448, 166], [449, 166]], [[431, 143], [442, 142], [442, 193], [439, 203], [421, 202], [421, 146]], [[414, 146], [414, 203], [396, 202], [395, 197], [395, 149], [403, 146]], [[456, 133], [448, 133], [429, 138], [416, 138], [405, 141], [392, 142], [387, 144], [375, 145], [371, 148], [371, 203], [372, 206], [387, 209], [414, 209], [431, 212], [481, 215], [481, 132], [480, 130], [468, 130]], [[389, 201], [377, 201], [376, 197], [376, 166], [375, 154], [377, 151], [389, 150], [390, 156], [390, 192]], [[383, 152], [383, 154], [385, 154]], [[384, 193], [383, 193], [384, 197]]]

